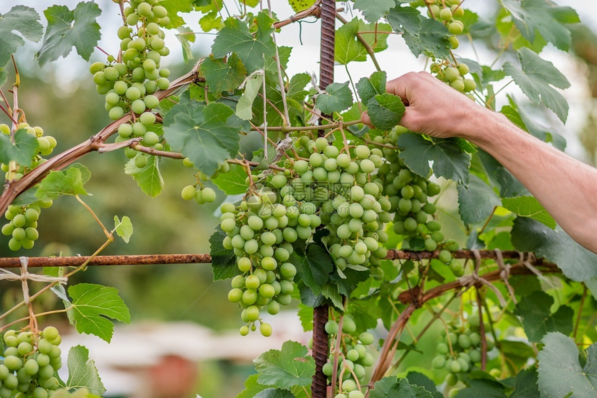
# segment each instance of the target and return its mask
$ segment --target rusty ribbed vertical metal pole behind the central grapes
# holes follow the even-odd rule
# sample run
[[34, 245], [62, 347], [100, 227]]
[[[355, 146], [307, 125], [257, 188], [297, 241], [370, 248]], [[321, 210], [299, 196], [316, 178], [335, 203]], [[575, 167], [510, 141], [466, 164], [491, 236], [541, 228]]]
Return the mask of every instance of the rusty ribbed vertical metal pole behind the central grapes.
[[[336, 1], [321, 1], [321, 52], [319, 56], [319, 88], [325, 90], [334, 82], [334, 40], [336, 24]], [[321, 124], [321, 119], [320, 119]], [[323, 131], [319, 131], [323, 136]], [[328, 305], [318, 306], [313, 312], [313, 358], [315, 359], [315, 375], [311, 384], [312, 398], [326, 398], [328, 378], [322, 367], [328, 360], [328, 333], [325, 326], [328, 322]]]

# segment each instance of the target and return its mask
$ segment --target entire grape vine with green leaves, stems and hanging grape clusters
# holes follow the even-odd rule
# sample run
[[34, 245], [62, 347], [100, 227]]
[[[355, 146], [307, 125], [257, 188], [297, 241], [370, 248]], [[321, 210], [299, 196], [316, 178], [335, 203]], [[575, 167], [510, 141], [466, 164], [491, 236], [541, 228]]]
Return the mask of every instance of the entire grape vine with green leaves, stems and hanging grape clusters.
[[[229, 280], [240, 335], [274, 335], [277, 320], [269, 315], [295, 306], [305, 331], [327, 333], [310, 347], [285, 342], [256, 358], [257, 374], [239, 398], [591, 396], [597, 258], [489, 154], [401, 126], [405, 104], [386, 90], [394, 71], [384, 72], [377, 55], [396, 34], [415, 57], [427, 58], [432, 76], [471, 101], [498, 110], [496, 96], [514, 82], [565, 122], [568, 104], [555, 88], [569, 83], [539, 54], [548, 43], [569, 49], [577, 13], [548, 0], [496, 2], [489, 16], [460, 0], [351, 0], [337, 9], [329, 0], [287, 3], [113, 0], [101, 10], [89, 1], [47, 8], [45, 30], [33, 8], [0, 15], [8, 38], [0, 80], [15, 78], [12, 101], [0, 90], [6, 245], [23, 254], [44, 244], [41, 210], [62, 196], [84, 206], [106, 237], [82, 260], [60, 259], [51, 276], [28, 272], [24, 256], [16, 264], [21, 276], [0, 269], [0, 279], [24, 285], [23, 301], [0, 315], [0, 398], [105, 392], [81, 346], [69, 351], [69, 380], [58, 379], [60, 333], [37, 325], [38, 317], [68, 313], [78, 332], [109, 341], [112, 321], [131, 319], [114, 288], [65, 288], [70, 276], [106, 260], [99, 254], [115, 235], [128, 242], [133, 233], [128, 217], [115, 216], [110, 229], [83, 201], [90, 170], [75, 162], [91, 151], [124, 152], [126, 174], [151, 197], [165, 188], [160, 164], [177, 163], [186, 184], [178, 199], [218, 205], [211, 256], [185, 258], [210, 260], [214, 279]], [[13, 53], [24, 39], [43, 38], [36, 54], [42, 67], [73, 47], [90, 61], [102, 11], [118, 21], [119, 42], [97, 51], [101, 60], [90, 62], [87, 77], [112, 122], [54, 154], [56, 134], [30, 125], [28, 104], [19, 103], [27, 82]], [[192, 11], [201, 15], [198, 24]], [[283, 30], [317, 18], [325, 47], [320, 76], [291, 74], [296, 60]], [[328, 26], [334, 21], [336, 28]], [[173, 79], [165, 67], [170, 30], [185, 60], [199, 31], [214, 33], [210, 53]], [[496, 59], [464, 58], [471, 53], [465, 42], [483, 42]], [[12, 69], [1, 68], [11, 59]], [[353, 65], [367, 60], [377, 72], [353, 78]], [[334, 81], [333, 62], [348, 81]], [[562, 145], [554, 131], [539, 131], [518, 99], [503, 101], [500, 111], [512, 122]], [[371, 126], [363, 124], [365, 110]], [[248, 149], [244, 136], [262, 147]], [[223, 203], [221, 192], [228, 194]], [[29, 296], [29, 280], [47, 284]], [[36, 313], [35, 300], [46, 292], [65, 308]], [[16, 317], [20, 308], [28, 316]], [[579, 353], [575, 344], [590, 347]], [[553, 365], [560, 358], [562, 369]], [[76, 366], [84, 377], [72, 372]], [[323, 379], [328, 391], [311, 390], [312, 379]]]

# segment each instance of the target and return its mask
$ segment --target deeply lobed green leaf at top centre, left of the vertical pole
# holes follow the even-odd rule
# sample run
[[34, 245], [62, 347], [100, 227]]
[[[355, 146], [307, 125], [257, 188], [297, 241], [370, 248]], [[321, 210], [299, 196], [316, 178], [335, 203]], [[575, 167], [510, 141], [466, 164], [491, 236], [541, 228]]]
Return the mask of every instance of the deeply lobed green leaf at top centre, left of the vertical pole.
[[218, 32], [212, 45], [212, 53], [216, 58], [223, 58], [228, 53], [235, 52], [244, 63], [247, 71], [253, 72], [264, 65], [264, 58], [274, 56], [276, 44], [271, 38], [274, 19], [262, 11], [255, 17], [257, 30], [255, 36], [241, 20], [230, 17], [224, 22], [224, 28]]

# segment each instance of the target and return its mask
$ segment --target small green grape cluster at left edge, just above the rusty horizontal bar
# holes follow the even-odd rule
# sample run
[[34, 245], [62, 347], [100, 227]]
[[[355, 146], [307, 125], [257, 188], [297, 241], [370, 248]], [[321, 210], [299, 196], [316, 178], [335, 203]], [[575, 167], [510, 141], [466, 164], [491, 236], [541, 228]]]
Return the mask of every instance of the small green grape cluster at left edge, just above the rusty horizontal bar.
[[37, 232], [37, 219], [40, 218], [42, 208], [52, 206], [52, 201], [37, 201], [27, 206], [11, 204], [6, 209], [4, 217], [8, 223], [2, 226], [2, 234], [11, 236], [8, 241], [8, 248], [17, 251], [21, 248], [31, 249], [35, 240], [40, 237]]

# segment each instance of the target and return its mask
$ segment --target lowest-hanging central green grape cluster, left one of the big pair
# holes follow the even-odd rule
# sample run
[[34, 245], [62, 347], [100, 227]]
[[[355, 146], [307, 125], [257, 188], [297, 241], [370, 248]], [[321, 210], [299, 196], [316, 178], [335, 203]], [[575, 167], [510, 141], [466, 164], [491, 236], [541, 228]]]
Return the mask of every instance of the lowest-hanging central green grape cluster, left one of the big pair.
[[246, 325], [241, 327], [241, 335], [255, 330], [257, 321], [261, 334], [271, 335], [271, 326], [260, 319], [261, 311], [265, 308], [275, 315], [280, 305], [287, 306], [292, 300], [296, 267], [287, 261], [294, 251], [292, 242], [309, 239], [321, 224], [314, 204], [296, 205], [281, 203], [276, 192], [263, 187], [239, 206], [221, 206], [220, 227], [226, 233], [223, 244], [234, 250], [242, 272], [233, 278], [228, 293], [228, 299], [243, 308], [241, 318]]

